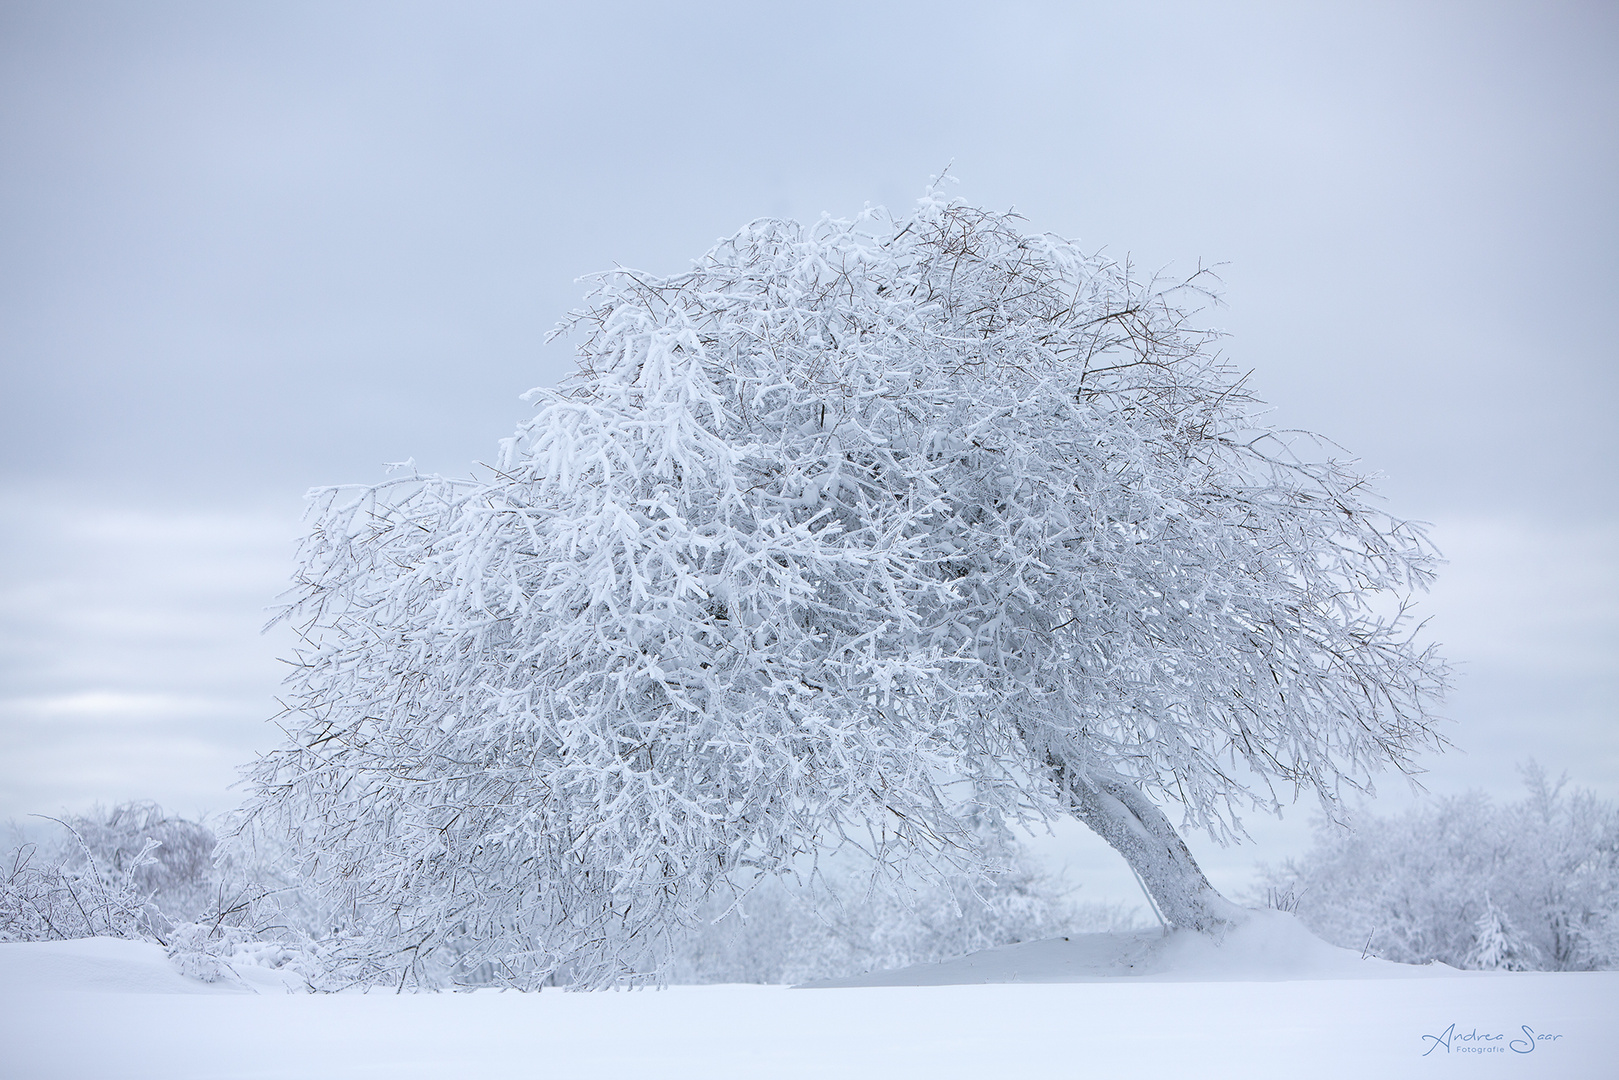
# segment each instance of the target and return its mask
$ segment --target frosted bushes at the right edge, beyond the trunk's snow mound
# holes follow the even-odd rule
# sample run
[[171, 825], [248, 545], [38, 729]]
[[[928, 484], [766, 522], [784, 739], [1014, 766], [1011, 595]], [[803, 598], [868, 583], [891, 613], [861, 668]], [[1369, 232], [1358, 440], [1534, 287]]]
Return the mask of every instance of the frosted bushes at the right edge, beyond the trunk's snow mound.
[[1404, 814], [1316, 827], [1266, 871], [1339, 946], [1404, 963], [1580, 972], [1619, 967], [1619, 808], [1523, 769], [1525, 798], [1428, 800]]

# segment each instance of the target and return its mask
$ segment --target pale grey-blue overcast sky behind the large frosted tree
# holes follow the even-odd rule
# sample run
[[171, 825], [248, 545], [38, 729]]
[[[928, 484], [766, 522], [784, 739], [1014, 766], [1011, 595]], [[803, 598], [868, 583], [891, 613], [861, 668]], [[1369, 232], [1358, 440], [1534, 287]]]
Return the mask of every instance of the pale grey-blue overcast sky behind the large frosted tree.
[[952, 162], [1033, 230], [1224, 264], [1205, 321], [1274, 421], [1434, 523], [1431, 789], [1533, 755], [1619, 797], [1616, 57], [1611, 3], [6, 0], [0, 819], [232, 805], [308, 487], [487, 458], [581, 274]]

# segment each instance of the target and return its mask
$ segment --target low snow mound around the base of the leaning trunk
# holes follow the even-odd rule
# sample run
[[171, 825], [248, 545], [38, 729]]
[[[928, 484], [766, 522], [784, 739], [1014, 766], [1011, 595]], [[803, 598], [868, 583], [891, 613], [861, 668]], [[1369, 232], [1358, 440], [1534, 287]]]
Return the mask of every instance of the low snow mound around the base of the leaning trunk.
[[1287, 912], [1250, 912], [1214, 938], [1193, 931], [1138, 929], [1073, 934], [986, 949], [944, 963], [805, 983], [803, 989], [845, 986], [967, 986], [986, 983], [1253, 983], [1344, 978], [1431, 978], [1478, 975], [1443, 963], [1415, 967], [1362, 957], [1329, 946]]

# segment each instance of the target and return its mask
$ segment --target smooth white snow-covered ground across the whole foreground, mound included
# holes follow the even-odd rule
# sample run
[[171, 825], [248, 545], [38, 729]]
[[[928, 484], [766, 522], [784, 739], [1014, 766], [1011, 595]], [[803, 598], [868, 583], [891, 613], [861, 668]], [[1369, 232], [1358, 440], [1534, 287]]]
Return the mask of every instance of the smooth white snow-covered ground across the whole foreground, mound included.
[[155, 946], [0, 946], [0, 1077], [1614, 1077], [1619, 973], [1362, 960], [1261, 916], [1221, 947], [1093, 934], [865, 984], [285, 994]]

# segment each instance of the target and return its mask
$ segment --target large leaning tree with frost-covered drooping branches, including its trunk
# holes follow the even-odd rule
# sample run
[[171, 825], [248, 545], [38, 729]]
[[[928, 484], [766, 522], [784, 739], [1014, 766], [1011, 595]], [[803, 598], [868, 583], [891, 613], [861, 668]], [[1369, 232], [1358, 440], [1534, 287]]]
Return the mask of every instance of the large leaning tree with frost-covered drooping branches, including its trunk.
[[970, 866], [983, 810], [1240, 918], [1162, 806], [1336, 800], [1444, 674], [1375, 606], [1420, 531], [1255, 416], [1203, 280], [939, 193], [597, 277], [486, 478], [316, 495], [256, 813], [406, 981], [636, 976], [831, 847]]

